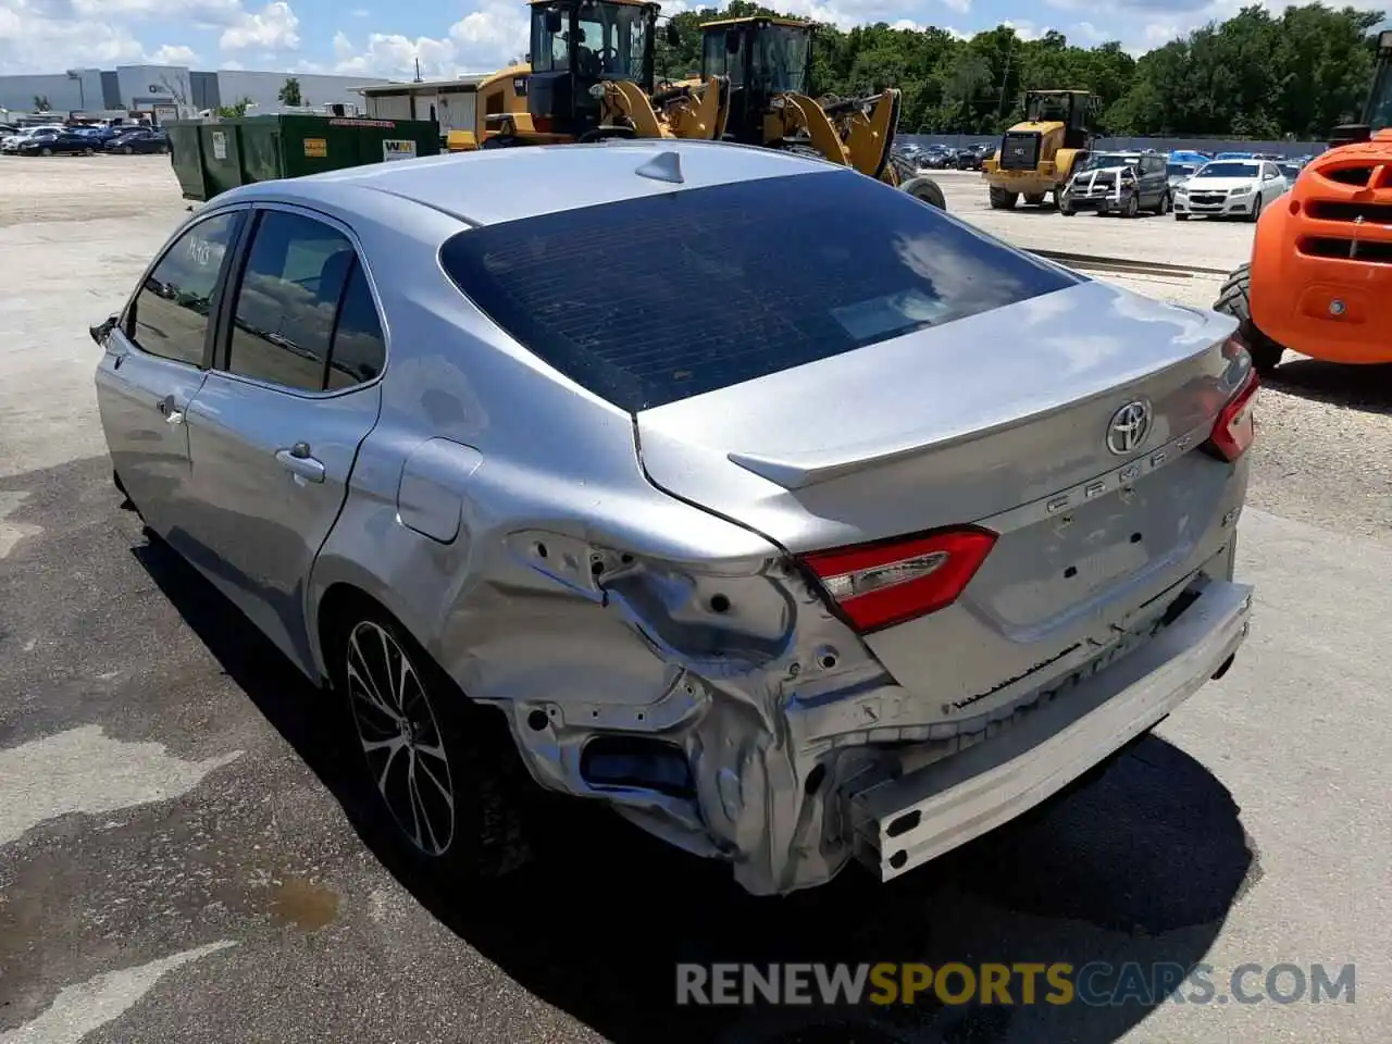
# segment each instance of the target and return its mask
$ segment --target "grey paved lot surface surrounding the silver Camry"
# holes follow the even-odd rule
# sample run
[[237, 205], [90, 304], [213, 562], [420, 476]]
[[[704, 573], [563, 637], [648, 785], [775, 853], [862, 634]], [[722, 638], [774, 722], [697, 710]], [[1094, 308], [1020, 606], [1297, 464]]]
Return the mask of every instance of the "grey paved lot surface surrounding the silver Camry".
[[[11, 164], [49, 180], [39, 203]], [[892, 885], [852, 869], [752, 899], [722, 867], [567, 806], [516, 880], [451, 888], [383, 842], [333, 699], [149, 543], [110, 484], [86, 327], [181, 216], [167, 159], [0, 161], [0, 1044], [1386, 1040], [1381, 465], [1321, 450], [1318, 473], [1288, 466], [1299, 423], [1282, 423], [1254, 451], [1239, 572], [1257, 600], [1232, 671], [1066, 802]], [[1367, 377], [1347, 380], [1366, 400]], [[1279, 394], [1286, 412], [1306, 402]], [[1317, 408], [1350, 409], [1338, 394]], [[1359, 412], [1370, 437], [1386, 438], [1381, 405]], [[1219, 981], [1353, 963], [1357, 990], [672, 1005], [677, 962], [884, 960], [1164, 962]]]

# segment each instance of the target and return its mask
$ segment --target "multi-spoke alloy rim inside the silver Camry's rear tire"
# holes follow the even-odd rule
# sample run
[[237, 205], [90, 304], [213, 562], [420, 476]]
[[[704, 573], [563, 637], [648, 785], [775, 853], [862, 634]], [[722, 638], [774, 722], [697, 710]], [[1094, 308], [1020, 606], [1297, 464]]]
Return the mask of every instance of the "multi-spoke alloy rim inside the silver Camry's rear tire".
[[454, 781], [444, 736], [411, 657], [380, 624], [348, 635], [347, 688], [367, 768], [401, 831], [441, 856], [454, 841]]

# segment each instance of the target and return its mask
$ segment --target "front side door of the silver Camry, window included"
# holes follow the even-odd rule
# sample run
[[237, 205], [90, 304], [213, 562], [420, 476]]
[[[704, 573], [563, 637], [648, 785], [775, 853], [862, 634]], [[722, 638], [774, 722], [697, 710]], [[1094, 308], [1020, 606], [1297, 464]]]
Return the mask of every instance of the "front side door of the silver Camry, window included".
[[181, 543], [188, 406], [207, 373], [209, 313], [244, 212], [198, 221], [155, 263], [97, 363], [96, 401], [111, 466], [145, 523]]

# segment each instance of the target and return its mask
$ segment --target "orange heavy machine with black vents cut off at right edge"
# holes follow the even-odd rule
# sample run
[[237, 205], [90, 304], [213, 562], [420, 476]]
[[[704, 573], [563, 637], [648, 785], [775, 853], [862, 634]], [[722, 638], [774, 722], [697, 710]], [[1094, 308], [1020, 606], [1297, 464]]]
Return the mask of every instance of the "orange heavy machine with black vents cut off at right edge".
[[1335, 128], [1328, 152], [1257, 221], [1251, 262], [1214, 303], [1242, 323], [1257, 370], [1292, 351], [1327, 362], [1392, 362], [1392, 29], [1363, 122]]

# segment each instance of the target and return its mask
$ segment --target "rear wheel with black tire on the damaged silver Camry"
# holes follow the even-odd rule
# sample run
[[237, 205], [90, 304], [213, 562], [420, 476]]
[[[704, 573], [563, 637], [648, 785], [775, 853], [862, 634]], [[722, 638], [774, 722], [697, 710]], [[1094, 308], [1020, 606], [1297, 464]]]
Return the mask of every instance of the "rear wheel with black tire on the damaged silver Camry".
[[[406, 629], [367, 600], [348, 607], [330, 631], [331, 682], [359, 746], [363, 789], [387, 813], [377, 820], [390, 824], [394, 848], [441, 883], [500, 878], [528, 863], [519, 796], [535, 784], [501, 715], [469, 702]], [[388, 746], [369, 750], [372, 743]]]

